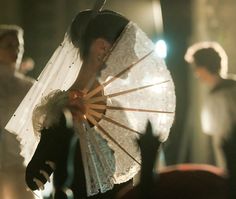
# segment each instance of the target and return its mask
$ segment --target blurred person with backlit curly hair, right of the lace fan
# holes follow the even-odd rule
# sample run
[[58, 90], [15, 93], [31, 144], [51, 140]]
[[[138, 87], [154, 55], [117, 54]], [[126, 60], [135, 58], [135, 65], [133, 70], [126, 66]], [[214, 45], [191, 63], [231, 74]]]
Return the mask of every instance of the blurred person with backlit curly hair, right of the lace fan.
[[226, 169], [222, 146], [236, 134], [236, 81], [223, 78], [227, 55], [218, 43], [202, 42], [191, 46], [185, 59], [209, 88], [201, 115], [202, 128], [212, 135], [216, 165]]

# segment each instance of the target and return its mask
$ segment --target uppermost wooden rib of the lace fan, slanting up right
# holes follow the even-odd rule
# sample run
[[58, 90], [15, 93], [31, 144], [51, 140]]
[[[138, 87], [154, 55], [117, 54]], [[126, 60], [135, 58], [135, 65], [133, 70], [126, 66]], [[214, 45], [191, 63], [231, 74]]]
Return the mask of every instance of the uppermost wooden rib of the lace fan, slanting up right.
[[142, 58], [140, 58], [139, 60], [137, 60], [136, 62], [130, 64], [127, 68], [125, 68], [124, 70], [122, 70], [120, 73], [118, 73], [117, 75], [115, 75], [114, 77], [112, 77], [110, 80], [104, 82], [102, 85], [98, 86], [97, 88], [93, 89], [92, 91], [90, 91], [86, 96], [85, 99], [89, 99], [92, 96], [96, 95], [99, 91], [101, 91], [105, 86], [107, 86], [108, 84], [110, 84], [111, 82], [115, 81], [118, 77], [120, 77], [121, 75], [123, 75], [124, 73], [126, 73], [127, 71], [129, 71], [131, 68], [133, 68], [136, 64], [138, 64], [139, 62], [141, 62], [142, 60], [144, 60], [145, 58], [147, 58], [149, 55], [151, 55], [154, 52], [154, 50], [151, 50], [149, 53], [147, 53], [146, 55], [144, 55]]

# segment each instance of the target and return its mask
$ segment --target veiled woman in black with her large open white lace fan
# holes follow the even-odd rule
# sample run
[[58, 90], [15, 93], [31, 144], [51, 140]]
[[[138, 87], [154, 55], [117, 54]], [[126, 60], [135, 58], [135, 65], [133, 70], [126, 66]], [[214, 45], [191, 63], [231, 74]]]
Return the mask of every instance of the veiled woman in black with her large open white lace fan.
[[173, 81], [153, 43], [103, 3], [75, 17], [6, 126], [21, 138], [29, 188], [53, 173], [55, 198], [113, 198], [132, 186], [147, 119], [165, 141], [174, 118]]

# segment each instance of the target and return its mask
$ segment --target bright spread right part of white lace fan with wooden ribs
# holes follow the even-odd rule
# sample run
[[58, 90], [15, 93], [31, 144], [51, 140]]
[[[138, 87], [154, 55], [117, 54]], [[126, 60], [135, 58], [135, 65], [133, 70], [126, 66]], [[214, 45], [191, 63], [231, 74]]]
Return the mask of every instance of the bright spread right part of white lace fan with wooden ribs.
[[[115, 151], [115, 178], [123, 182], [138, 170], [136, 139], [148, 120], [162, 141], [168, 138], [175, 112], [174, 85], [153, 43], [132, 22], [113, 46], [99, 81], [101, 85], [84, 96], [85, 116], [109, 140]], [[104, 96], [98, 97], [101, 90]], [[106, 105], [100, 105], [104, 99]]]

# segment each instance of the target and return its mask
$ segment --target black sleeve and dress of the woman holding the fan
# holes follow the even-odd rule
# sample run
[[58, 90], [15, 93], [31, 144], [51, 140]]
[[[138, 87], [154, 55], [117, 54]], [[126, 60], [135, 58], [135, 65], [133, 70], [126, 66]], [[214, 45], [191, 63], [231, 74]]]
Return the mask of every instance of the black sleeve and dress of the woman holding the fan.
[[[43, 129], [41, 131], [40, 142], [37, 149], [26, 168], [26, 183], [32, 190], [38, 189], [36, 183], [33, 181], [34, 178], [38, 178], [43, 183], [46, 183], [45, 177], [40, 174], [40, 170], [44, 170], [49, 174], [52, 174], [53, 170], [46, 164], [46, 161], [52, 161], [55, 163], [56, 168], [54, 171], [54, 188], [55, 188], [55, 199], [66, 199], [66, 195], [63, 192], [64, 183], [67, 180], [67, 159], [70, 153], [70, 142], [74, 135], [72, 128], [66, 127], [66, 121], [64, 116], [58, 125], [53, 126], [49, 129]], [[72, 184], [69, 189], [73, 191], [74, 199], [88, 198], [86, 195], [86, 182], [84, 168], [81, 158], [81, 151], [79, 146], [79, 140], [76, 143], [74, 156], [74, 176]], [[115, 185], [113, 190], [108, 191], [104, 194], [97, 194], [91, 199], [104, 198], [111, 199], [119, 192], [124, 186], [132, 187], [132, 181]]]

